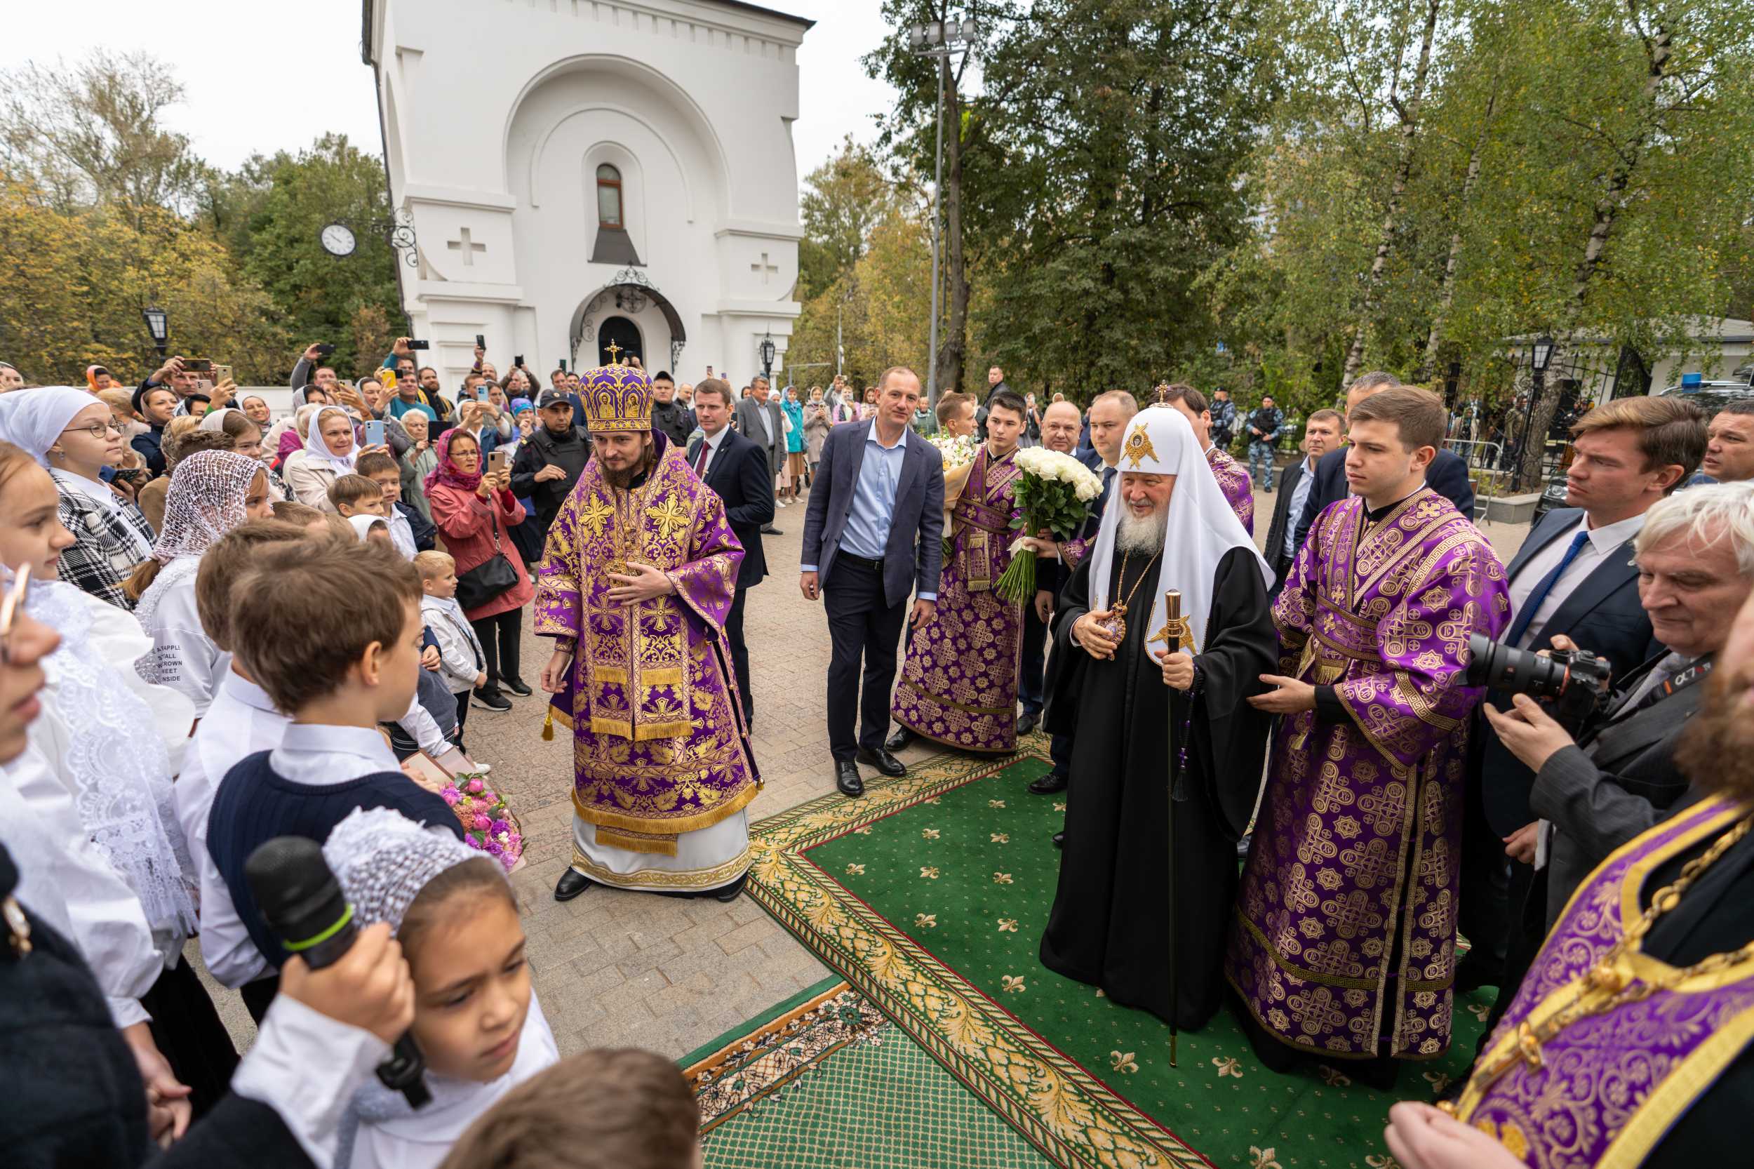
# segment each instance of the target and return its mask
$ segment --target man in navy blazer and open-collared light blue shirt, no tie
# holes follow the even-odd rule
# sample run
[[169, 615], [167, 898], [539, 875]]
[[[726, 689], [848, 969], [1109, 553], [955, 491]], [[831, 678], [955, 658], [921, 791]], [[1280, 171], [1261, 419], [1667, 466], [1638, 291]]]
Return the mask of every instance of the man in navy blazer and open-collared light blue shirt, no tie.
[[912, 620], [930, 621], [944, 560], [944, 460], [907, 425], [917, 407], [919, 376], [903, 365], [884, 370], [877, 416], [828, 432], [803, 518], [798, 586], [828, 611], [828, 749], [844, 795], [865, 793], [858, 764], [907, 774], [882, 746], [889, 688], [907, 595], [916, 593]]

